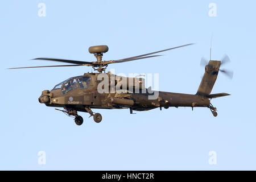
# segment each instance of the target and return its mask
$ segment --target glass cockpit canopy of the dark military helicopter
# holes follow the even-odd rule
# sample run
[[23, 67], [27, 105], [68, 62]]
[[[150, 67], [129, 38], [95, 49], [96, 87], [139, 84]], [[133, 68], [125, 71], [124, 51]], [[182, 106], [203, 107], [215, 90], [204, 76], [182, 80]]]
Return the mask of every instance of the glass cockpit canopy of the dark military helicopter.
[[90, 80], [90, 76], [68, 78], [67, 80], [55, 85], [52, 90], [61, 89], [61, 93], [66, 94], [68, 92], [71, 92], [72, 90], [75, 90], [76, 88], [86, 89], [90, 84]]

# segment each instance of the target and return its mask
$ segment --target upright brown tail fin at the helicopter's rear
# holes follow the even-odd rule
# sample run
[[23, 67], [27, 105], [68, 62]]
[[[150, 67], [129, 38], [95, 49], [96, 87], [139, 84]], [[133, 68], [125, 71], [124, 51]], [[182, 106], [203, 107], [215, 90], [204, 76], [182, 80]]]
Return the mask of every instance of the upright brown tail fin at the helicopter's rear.
[[208, 65], [205, 66], [204, 77], [197, 90], [197, 95], [207, 96], [212, 92], [213, 85], [217, 79], [218, 71], [220, 69], [221, 61], [210, 60]]

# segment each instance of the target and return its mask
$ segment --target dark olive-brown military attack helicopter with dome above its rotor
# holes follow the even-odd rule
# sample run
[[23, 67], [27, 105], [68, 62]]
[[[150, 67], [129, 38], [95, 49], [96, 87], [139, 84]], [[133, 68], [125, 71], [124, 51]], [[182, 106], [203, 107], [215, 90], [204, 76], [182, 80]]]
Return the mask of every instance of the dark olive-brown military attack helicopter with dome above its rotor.
[[[39, 102], [46, 106], [63, 107], [64, 110], [56, 110], [63, 111], [68, 116], [75, 117], [74, 120], [77, 125], [82, 125], [84, 121], [84, 119], [77, 114], [77, 111], [89, 113], [90, 117], [92, 116], [96, 123], [101, 122], [102, 115], [100, 113], [93, 113], [92, 109], [130, 109], [130, 114], [133, 114], [133, 110], [146, 111], [158, 107], [160, 107], [160, 110], [162, 110], [162, 107], [168, 109], [169, 107], [183, 106], [192, 107], [192, 110], [193, 107], [208, 107], [213, 116], [216, 117], [216, 107], [210, 104], [210, 100], [212, 98], [229, 96], [229, 94], [210, 94], [210, 92], [212, 91], [219, 71], [232, 77], [232, 72], [220, 69], [222, 64], [230, 61], [228, 56], [225, 56], [221, 61], [209, 60], [207, 62], [205, 59], [201, 60], [201, 65], [205, 66], [205, 73], [196, 94], [158, 92], [157, 97], [152, 99], [150, 96], [154, 95], [154, 91], [151, 90], [151, 87], [145, 88], [144, 78], [126, 78], [113, 75], [111, 72], [105, 73], [106, 67], [108, 67], [109, 64], [158, 57], [161, 55], [153, 54], [190, 45], [192, 44], [185, 44], [183, 46], [127, 57], [125, 59], [108, 61], [102, 60], [103, 53], [108, 52], [108, 46], [92, 46], [89, 47], [89, 53], [94, 54], [97, 61], [88, 62], [39, 57], [34, 60], [58, 61], [71, 64], [9, 69], [88, 66], [92, 67], [94, 71], [97, 71], [68, 78], [55, 85], [52, 90], [44, 90], [39, 97]], [[112, 79], [113, 77], [114, 80]], [[107, 86], [100, 86], [100, 84], [102, 84], [102, 78], [105, 78], [105, 83], [108, 83]], [[118, 88], [117, 85], [119, 85]], [[99, 88], [103, 88], [105, 92], [100, 92]]]

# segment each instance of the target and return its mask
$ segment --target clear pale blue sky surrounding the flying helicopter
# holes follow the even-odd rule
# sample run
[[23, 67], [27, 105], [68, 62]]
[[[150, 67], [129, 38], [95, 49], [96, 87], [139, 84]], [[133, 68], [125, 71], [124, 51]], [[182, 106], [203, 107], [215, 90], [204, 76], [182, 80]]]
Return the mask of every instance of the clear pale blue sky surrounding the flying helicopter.
[[[217, 16], [210, 17], [209, 3]], [[46, 16], [38, 16], [45, 3]], [[256, 169], [254, 1], [1, 1], [0, 169], [170, 170]], [[42, 90], [84, 72], [86, 67], [7, 70], [54, 65], [35, 57], [93, 61], [89, 46], [106, 44], [105, 60], [121, 59], [187, 43], [162, 57], [109, 65], [116, 73], [159, 73], [159, 89], [196, 93], [202, 56], [226, 53], [233, 80], [219, 74], [207, 108], [171, 108], [130, 114], [93, 110], [84, 124], [39, 104]], [[46, 164], [38, 164], [38, 152]], [[217, 154], [210, 165], [209, 151]]]

